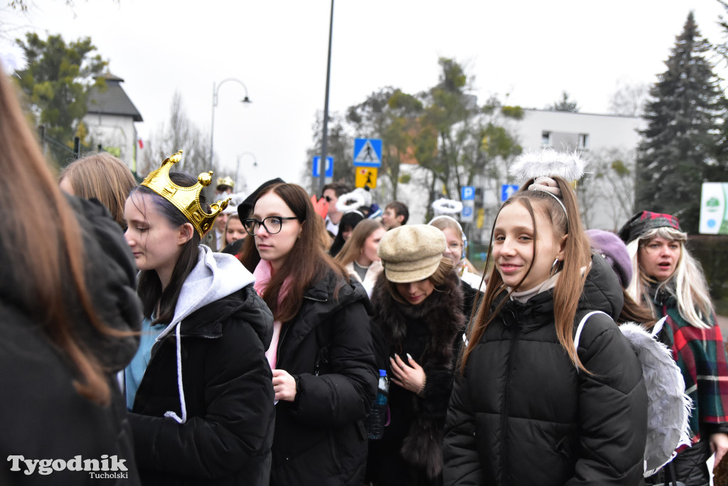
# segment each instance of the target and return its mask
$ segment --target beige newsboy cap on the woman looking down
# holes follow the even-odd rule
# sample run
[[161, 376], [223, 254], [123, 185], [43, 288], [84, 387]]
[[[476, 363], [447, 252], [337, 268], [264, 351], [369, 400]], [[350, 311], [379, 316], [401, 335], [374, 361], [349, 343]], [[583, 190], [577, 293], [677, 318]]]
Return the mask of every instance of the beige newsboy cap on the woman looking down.
[[376, 254], [381, 258], [388, 281], [409, 283], [435, 273], [445, 248], [445, 235], [434, 226], [405, 224], [387, 231]]

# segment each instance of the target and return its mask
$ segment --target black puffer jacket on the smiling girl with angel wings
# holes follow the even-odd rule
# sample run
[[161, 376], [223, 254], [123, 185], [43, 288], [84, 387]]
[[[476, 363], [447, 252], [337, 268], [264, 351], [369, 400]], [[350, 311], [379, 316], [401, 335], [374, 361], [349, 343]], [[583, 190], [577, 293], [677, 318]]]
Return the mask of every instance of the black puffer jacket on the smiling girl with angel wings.
[[[621, 296], [611, 268], [593, 259], [577, 319], [618, 315]], [[643, 484], [647, 398], [630, 343], [593, 315], [579, 358], [592, 375], [577, 372], [558, 342], [552, 291], [507, 302], [456, 380], [446, 485]]]

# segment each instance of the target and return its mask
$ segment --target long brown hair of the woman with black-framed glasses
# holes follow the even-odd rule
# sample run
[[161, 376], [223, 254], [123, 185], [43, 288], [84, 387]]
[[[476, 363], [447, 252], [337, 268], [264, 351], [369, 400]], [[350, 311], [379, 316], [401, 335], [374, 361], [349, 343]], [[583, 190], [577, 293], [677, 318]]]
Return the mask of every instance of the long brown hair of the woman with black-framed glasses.
[[[323, 231], [323, 219], [314, 211], [306, 189], [297, 184], [274, 184], [256, 197], [253, 208], [258, 200], [269, 192], [273, 192], [288, 205], [288, 208], [301, 222], [302, 228], [301, 235], [286, 258], [286, 261], [292, 262], [292, 264], [283, 265], [272, 276], [261, 296], [273, 313], [275, 320], [287, 322], [293, 319], [301, 309], [306, 289], [324, 278], [326, 273], [329, 271], [337, 273], [341, 277], [342, 283], [349, 281], [349, 274], [339, 262], [335, 262], [331, 256], [328, 256], [321, 246], [320, 235]], [[242, 243], [240, 262], [252, 273], [260, 261], [261, 256], [256, 248], [256, 238], [245, 238]], [[288, 294], [282, 302], [278, 302], [283, 282], [288, 277], [290, 277]], [[339, 287], [337, 287], [338, 289]]]

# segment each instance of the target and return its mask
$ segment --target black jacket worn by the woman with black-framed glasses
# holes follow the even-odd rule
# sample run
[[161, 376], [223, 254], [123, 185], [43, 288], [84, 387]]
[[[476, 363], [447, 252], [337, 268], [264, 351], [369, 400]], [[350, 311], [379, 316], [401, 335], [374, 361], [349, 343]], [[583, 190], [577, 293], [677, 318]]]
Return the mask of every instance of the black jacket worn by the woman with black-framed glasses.
[[330, 272], [283, 323], [276, 367], [296, 378], [297, 391], [296, 401], [276, 405], [272, 486], [363, 484], [363, 420], [379, 376], [368, 308], [360, 283]]

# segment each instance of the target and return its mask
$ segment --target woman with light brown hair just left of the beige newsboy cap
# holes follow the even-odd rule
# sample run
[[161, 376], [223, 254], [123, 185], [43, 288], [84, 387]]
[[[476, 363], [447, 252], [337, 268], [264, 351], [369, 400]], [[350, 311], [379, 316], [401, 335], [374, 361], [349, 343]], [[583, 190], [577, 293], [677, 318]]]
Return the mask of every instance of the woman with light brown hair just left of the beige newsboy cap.
[[376, 250], [386, 232], [380, 222], [374, 219], [363, 220], [354, 228], [349, 240], [335, 258], [346, 267], [349, 275], [362, 283], [369, 297], [382, 270]]

